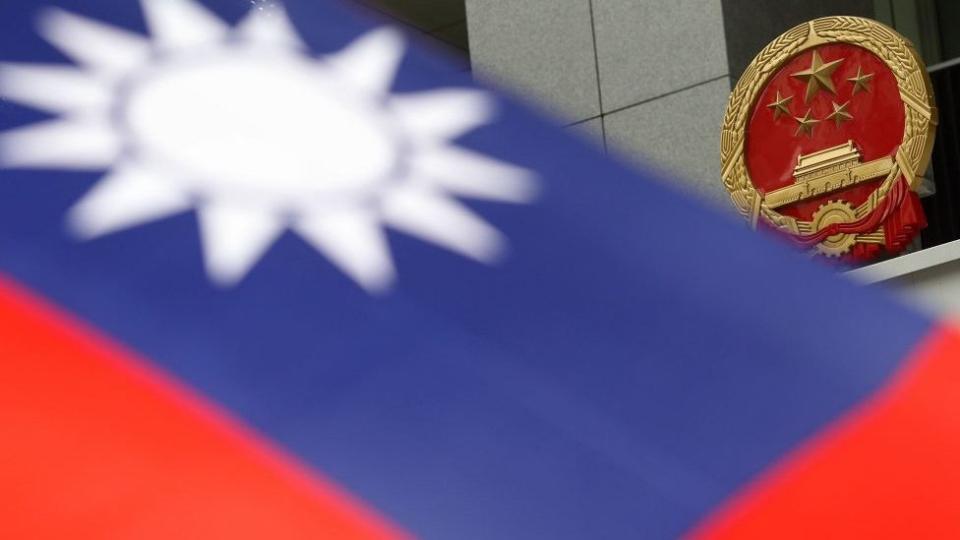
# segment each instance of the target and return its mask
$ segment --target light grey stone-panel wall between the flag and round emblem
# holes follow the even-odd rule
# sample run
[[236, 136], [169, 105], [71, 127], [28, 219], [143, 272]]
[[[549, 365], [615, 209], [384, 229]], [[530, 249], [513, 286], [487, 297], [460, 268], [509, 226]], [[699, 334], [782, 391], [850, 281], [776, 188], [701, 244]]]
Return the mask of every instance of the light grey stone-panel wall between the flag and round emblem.
[[730, 92], [721, 0], [467, 0], [474, 73], [610, 154], [729, 207], [719, 179]]

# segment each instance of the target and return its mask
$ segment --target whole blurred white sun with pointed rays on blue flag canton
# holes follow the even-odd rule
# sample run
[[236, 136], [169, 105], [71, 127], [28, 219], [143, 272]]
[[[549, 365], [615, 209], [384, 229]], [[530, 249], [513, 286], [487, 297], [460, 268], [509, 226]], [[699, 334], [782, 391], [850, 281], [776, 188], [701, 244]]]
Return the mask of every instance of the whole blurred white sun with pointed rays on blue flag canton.
[[451, 143], [490, 120], [488, 94], [391, 94], [403, 43], [389, 29], [315, 58], [278, 5], [231, 28], [190, 0], [142, 4], [152, 39], [51, 10], [41, 34], [83, 69], [0, 66], [0, 95], [60, 115], [0, 135], [0, 163], [109, 170], [70, 209], [74, 234], [195, 209], [218, 284], [289, 229], [371, 292], [395, 279], [385, 226], [485, 263], [502, 253], [453, 197], [535, 195], [525, 169]]

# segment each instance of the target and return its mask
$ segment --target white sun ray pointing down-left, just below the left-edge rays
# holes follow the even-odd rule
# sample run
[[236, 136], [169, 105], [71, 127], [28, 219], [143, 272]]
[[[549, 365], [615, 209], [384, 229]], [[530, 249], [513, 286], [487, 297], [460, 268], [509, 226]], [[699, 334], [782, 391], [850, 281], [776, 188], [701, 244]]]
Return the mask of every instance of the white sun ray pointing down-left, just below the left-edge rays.
[[81, 238], [95, 238], [189, 210], [192, 201], [149, 168], [124, 165], [98, 182], [67, 214]]

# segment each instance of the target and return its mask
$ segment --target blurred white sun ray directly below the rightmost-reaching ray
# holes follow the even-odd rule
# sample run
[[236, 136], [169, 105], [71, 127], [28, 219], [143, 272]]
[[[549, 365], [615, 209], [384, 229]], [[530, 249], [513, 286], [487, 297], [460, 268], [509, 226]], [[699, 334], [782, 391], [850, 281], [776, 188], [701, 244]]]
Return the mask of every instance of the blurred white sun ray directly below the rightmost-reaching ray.
[[480, 262], [493, 263], [506, 244], [500, 233], [453, 199], [425, 189], [407, 189], [384, 201], [383, 219], [395, 229], [429, 240]]

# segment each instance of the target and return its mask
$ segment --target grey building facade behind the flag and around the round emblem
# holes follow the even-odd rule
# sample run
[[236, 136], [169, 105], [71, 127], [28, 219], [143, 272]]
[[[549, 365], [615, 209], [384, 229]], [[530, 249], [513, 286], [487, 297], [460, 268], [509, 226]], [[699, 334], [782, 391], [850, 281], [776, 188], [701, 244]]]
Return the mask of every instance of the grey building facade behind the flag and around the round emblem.
[[[940, 126], [912, 252], [851, 275], [960, 314], [960, 2], [955, 0], [357, 0], [512, 89], [615, 159], [664, 171], [731, 211], [719, 134], [731, 87], [768, 42], [817, 17], [855, 15], [910, 39]], [[584, 181], [590, 181], [589, 178]], [[956, 292], [956, 294], [953, 294]]]

